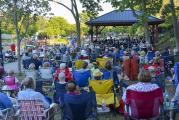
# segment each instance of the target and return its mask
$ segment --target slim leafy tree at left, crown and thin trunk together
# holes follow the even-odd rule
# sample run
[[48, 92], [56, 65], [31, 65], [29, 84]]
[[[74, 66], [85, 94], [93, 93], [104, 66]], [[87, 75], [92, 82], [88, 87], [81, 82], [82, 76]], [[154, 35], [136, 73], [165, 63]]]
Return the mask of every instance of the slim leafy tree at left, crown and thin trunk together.
[[18, 71], [21, 73], [20, 43], [28, 33], [30, 23], [50, 10], [45, 0], [1, 0], [0, 9], [12, 20], [17, 39]]

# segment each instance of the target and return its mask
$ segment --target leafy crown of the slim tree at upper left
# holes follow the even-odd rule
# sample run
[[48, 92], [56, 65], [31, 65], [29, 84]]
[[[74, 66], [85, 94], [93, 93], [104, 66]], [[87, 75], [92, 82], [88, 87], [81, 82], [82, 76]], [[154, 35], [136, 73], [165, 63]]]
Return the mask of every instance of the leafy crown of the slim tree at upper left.
[[[15, 26], [13, 29], [20, 40], [33, 35], [37, 31], [34, 25], [37, 16], [50, 10], [47, 0], [1, 0], [0, 9], [8, 24]], [[6, 31], [12, 33], [8, 29]]]

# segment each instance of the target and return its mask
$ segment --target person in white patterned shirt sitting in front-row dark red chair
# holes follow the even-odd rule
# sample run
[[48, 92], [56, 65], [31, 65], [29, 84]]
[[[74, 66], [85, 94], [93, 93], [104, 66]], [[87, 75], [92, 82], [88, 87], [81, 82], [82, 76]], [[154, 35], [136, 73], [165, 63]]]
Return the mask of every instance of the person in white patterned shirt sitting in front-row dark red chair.
[[[138, 92], [149, 92], [159, 88], [157, 84], [151, 83], [151, 73], [148, 70], [141, 69], [138, 79], [140, 82], [129, 85], [126, 90], [130, 89]], [[126, 101], [126, 92], [124, 92], [122, 99], [124, 102]]]

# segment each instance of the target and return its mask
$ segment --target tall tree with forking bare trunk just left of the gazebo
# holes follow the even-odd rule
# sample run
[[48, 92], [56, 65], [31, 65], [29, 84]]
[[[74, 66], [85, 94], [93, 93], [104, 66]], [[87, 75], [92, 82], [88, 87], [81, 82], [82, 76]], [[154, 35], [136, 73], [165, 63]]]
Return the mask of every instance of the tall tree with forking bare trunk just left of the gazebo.
[[[71, 12], [76, 23], [77, 45], [80, 46], [81, 45], [80, 14], [78, 11], [77, 0], [68, 0], [71, 6], [65, 5], [63, 1], [60, 1], [60, 0], [49, 0], [49, 1], [57, 3], [65, 7], [67, 10]], [[82, 3], [83, 8], [86, 9], [86, 11], [88, 12], [90, 16], [94, 16], [98, 14], [101, 8], [99, 6], [99, 2], [100, 2], [99, 0], [97, 1], [96, 0], [80, 0], [80, 2]]]

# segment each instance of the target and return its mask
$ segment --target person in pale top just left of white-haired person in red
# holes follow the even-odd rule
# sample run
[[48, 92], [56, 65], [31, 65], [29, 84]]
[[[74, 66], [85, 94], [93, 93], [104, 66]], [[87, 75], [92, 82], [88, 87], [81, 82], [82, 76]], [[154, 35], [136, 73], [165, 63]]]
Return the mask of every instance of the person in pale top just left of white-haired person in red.
[[41, 67], [39, 69], [39, 73], [40, 73], [41, 79], [44, 79], [44, 80], [52, 80], [53, 79], [52, 68], [50, 67], [49, 62], [45, 62], [43, 64], [43, 67]]

